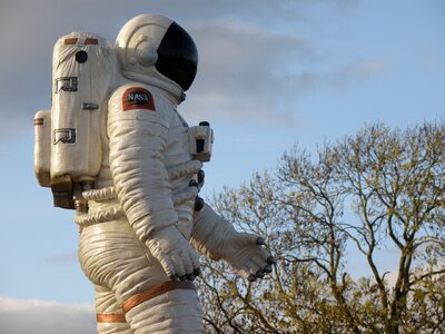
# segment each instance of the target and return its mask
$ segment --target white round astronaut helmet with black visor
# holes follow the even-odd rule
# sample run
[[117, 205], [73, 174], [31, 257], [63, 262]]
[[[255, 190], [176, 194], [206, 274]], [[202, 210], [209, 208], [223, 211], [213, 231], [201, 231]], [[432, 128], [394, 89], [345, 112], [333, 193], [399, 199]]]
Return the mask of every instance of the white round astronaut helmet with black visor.
[[[187, 90], [196, 76], [198, 51], [191, 37], [174, 20], [140, 14], [129, 20], [116, 40], [122, 75], [142, 81], [169, 81]], [[144, 77], [146, 77], [144, 80]]]

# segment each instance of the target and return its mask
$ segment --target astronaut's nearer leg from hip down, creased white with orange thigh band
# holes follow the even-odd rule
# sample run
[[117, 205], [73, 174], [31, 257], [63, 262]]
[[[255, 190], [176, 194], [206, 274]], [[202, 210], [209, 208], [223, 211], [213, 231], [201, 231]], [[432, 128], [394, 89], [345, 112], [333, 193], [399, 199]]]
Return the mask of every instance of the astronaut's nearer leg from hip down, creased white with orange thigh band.
[[79, 258], [89, 279], [111, 291], [117, 305], [131, 302], [123, 311], [134, 333], [204, 332], [195, 289], [177, 282], [160, 295], [152, 293], [171, 281], [125, 218], [83, 228]]

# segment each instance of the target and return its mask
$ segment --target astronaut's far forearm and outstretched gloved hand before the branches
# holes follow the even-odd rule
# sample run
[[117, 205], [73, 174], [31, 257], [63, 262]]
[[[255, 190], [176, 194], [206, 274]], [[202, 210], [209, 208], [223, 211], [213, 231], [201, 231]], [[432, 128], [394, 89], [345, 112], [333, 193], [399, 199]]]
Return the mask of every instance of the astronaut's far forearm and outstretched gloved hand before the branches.
[[271, 272], [274, 257], [257, 235], [239, 233], [207, 204], [195, 213], [191, 245], [210, 259], [225, 259], [243, 277], [255, 281]]

